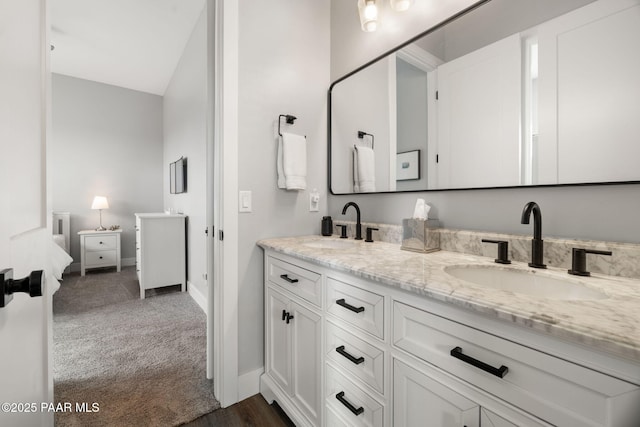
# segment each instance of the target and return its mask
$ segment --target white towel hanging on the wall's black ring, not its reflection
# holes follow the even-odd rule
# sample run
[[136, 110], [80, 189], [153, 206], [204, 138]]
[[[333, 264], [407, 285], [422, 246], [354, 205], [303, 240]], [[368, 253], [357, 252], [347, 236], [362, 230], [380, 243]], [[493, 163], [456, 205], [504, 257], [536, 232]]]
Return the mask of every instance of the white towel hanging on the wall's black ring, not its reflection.
[[282, 132], [278, 141], [278, 188], [307, 188], [307, 140], [304, 136]]

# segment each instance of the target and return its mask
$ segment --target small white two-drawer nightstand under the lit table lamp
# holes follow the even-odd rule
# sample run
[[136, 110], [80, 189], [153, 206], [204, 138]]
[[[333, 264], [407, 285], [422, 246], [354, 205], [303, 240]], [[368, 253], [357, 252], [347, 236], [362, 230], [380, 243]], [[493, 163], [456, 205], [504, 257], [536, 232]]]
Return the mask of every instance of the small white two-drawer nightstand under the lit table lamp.
[[120, 271], [120, 234], [118, 230], [82, 230], [80, 236], [80, 275], [88, 268], [116, 267]]

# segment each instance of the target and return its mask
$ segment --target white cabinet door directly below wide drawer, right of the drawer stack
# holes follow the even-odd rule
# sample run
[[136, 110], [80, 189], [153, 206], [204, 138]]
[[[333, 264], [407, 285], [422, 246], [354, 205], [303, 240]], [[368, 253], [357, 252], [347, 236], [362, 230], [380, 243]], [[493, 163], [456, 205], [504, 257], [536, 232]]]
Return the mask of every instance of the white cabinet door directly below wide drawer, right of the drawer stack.
[[393, 362], [393, 425], [479, 427], [480, 407], [399, 360]]

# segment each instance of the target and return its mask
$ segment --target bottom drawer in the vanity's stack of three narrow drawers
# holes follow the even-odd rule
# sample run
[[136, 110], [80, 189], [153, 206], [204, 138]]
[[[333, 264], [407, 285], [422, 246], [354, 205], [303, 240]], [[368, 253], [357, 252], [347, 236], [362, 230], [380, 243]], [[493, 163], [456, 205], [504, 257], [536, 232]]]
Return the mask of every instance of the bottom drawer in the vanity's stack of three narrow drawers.
[[[350, 426], [382, 427], [384, 406], [347, 380], [331, 365], [326, 366], [326, 402]], [[328, 424], [329, 425], [329, 424]]]

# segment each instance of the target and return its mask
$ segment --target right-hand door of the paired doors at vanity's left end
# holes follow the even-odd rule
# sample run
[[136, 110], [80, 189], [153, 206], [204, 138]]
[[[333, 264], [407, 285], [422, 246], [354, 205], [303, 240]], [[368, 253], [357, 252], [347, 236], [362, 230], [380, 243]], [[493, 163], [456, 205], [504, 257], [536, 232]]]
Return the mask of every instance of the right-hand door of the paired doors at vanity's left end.
[[290, 303], [292, 333], [293, 399], [298, 407], [317, 422], [320, 414], [320, 367], [322, 362], [322, 317], [294, 301]]

